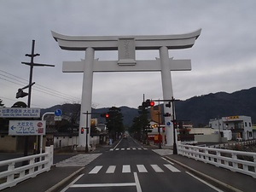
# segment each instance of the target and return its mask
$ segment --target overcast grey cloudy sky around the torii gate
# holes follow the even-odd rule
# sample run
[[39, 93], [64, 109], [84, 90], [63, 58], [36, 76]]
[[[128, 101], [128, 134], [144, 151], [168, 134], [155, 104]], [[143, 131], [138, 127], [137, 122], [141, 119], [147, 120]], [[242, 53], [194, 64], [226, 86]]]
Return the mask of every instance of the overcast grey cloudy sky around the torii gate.
[[[195, 32], [190, 49], [169, 50], [174, 59], [191, 59], [192, 71], [172, 72], [174, 97], [189, 99], [218, 91], [234, 92], [256, 84], [255, 0], [0, 0], [0, 99], [5, 107], [28, 84], [32, 39], [35, 62], [32, 107], [80, 102], [82, 73], [62, 73], [62, 61], [80, 61], [83, 51], [59, 48], [51, 31], [74, 36], [166, 35]], [[159, 57], [137, 51], [137, 60]], [[117, 60], [116, 52], [96, 52]], [[27, 91], [27, 90], [25, 90]], [[94, 73], [93, 107], [137, 108], [146, 98], [162, 99], [160, 73]]]

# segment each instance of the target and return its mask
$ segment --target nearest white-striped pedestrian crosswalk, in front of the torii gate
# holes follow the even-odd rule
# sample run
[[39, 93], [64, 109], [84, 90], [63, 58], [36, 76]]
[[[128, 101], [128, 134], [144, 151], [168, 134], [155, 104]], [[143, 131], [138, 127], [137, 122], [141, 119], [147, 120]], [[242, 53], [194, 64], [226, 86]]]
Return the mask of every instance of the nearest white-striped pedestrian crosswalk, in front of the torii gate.
[[180, 172], [175, 166], [172, 166], [171, 164], [163, 164], [161, 166], [152, 164], [148, 166], [144, 165], [136, 165], [136, 166], [131, 166], [131, 165], [122, 165], [117, 168], [117, 166], [95, 166], [93, 167], [92, 170], [88, 174], [97, 174], [99, 172], [101, 173], [107, 173], [107, 174], [113, 174], [116, 172], [116, 170], [119, 170], [121, 173], [129, 173], [129, 172]]

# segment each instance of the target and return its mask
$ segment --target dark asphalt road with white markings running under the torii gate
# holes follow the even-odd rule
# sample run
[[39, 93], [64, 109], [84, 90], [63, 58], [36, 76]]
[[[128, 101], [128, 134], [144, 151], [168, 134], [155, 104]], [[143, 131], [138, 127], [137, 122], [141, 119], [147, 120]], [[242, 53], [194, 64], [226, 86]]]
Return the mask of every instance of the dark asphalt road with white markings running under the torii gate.
[[221, 191], [131, 137], [100, 154], [61, 192]]

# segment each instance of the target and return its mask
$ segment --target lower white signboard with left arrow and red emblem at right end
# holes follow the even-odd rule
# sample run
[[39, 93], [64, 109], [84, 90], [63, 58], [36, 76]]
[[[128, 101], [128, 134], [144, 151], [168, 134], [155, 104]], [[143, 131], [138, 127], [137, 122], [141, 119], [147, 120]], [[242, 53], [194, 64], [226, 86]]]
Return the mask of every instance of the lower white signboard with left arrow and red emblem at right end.
[[9, 136], [45, 135], [45, 120], [10, 120]]

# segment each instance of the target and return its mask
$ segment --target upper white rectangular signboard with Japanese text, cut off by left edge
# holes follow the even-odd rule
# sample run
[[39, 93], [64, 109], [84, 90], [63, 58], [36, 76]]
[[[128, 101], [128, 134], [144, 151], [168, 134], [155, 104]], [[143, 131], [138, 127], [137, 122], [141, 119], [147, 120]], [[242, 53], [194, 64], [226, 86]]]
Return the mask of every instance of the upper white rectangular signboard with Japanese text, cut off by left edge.
[[40, 108], [0, 108], [0, 118], [39, 118]]

